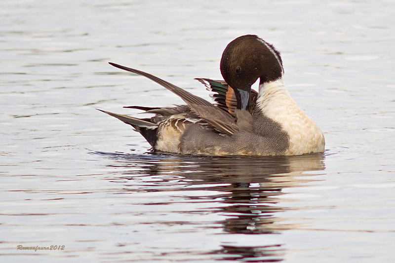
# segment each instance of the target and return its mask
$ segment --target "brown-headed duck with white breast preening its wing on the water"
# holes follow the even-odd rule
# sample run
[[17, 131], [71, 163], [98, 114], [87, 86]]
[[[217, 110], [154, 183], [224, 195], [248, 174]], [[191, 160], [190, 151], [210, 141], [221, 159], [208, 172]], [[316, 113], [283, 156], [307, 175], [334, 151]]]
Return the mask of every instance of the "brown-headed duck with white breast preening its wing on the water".
[[[127, 106], [154, 114], [137, 118], [99, 110], [139, 132], [153, 152], [209, 156], [292, 156], [322, 153], [325, 140], [317, 124], [288, 93], [280, 53], [256, 35], [232, 40], [220, 61], [224, 80], [196, 78], [214, 103], [157, 76], [109, 62], [155, 81], [185, 105]], [[259, 79], [259, 90], [251, 88]]]

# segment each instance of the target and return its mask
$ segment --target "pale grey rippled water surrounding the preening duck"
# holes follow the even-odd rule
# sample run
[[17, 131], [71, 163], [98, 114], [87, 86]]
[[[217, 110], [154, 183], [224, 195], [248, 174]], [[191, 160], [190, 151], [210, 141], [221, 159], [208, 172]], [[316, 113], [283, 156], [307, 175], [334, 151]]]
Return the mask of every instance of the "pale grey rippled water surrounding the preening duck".
[[[394, 261], [394, 0], [2, 0], [0, 14], [1, 262]], [[324, 154], [153, 155], [95, 110], [182, 103], [109, 61], [210, 100], [193, 78], [220, 79], [245, 34], [281, 52]]]

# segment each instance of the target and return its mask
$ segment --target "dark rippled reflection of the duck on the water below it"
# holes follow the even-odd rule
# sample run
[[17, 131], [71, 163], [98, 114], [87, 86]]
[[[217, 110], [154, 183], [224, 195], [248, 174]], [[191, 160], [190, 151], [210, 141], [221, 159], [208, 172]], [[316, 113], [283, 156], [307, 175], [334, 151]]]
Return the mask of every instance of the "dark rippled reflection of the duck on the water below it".
[[[307, 177], [315, 173], [305, 172], [325, 169], [322, 154], [227, 158], [92, 153], [112, 160], [108, 166], [119, 171], [113, 182], [122, 184], [125, 191], [196, 191], [185, 197], [187, 201], [211, 202], [213, 207], [204, 212], [224, 216], [225, 220], [215, 223], [232, 234], [276, 234], [296, 228], [278, 218], [278, 213], [287, 208], [280, 205], [282, 199], [277, 197], [285, 188], [300, 187], [311, 181]], [[202, 189], [216, 194], [202, 195]], [[232, 246], [224, 243], [211, 254], [222, 255], [224, 260], [276, 262], [283, 260], [283, 245]]]

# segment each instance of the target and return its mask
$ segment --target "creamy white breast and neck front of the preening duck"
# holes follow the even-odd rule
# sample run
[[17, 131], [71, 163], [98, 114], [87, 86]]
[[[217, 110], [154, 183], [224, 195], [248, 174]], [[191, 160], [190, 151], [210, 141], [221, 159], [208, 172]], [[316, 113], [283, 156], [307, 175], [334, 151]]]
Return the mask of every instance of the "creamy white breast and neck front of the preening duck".
[[284, 155], [325, 150], [321, 130], [291, 98], [281, 78], [259, 86], [257, 106], [267, 117], [280, 123], [288, 133], [289, 148]]

